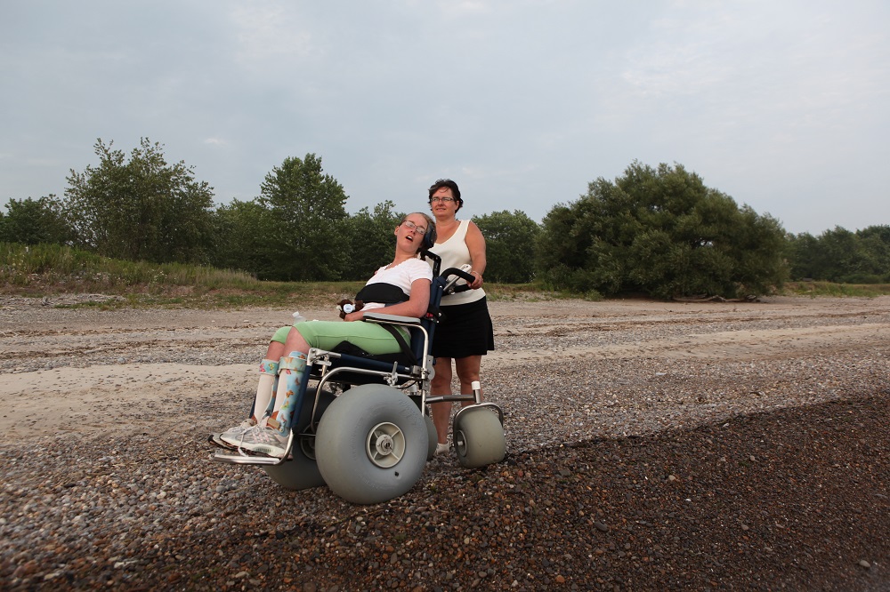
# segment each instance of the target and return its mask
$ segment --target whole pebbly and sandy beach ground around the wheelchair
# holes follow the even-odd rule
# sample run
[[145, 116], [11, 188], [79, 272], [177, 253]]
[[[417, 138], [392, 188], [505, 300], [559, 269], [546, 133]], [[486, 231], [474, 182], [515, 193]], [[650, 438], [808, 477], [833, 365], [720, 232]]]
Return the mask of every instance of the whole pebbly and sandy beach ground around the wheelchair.
[[493, 302], [506, 460], [354, 506], [208, 460], [288, 311], [99, 298], [0, 299], [0, 588], [890, 589], [890, 299]]

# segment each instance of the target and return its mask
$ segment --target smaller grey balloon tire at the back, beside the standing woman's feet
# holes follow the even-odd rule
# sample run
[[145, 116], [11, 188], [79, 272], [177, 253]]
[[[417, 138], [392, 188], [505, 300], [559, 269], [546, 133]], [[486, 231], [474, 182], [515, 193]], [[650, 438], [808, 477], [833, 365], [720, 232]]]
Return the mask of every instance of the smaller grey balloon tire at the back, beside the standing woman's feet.
[[482, 407], [459, 413], [454, 422], [454, 449], [465, 468], [504, 460], [506, 436], [498, 415]]

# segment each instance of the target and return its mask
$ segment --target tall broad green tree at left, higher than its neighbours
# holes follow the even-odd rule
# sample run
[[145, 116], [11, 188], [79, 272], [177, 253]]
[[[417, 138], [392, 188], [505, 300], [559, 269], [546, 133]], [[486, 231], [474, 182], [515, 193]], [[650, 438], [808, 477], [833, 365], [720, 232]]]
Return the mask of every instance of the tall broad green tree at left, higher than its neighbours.
[[182, 162], [167, 164], [162, 146], [140, 140], [129, 161], [97, 140], [98, 167], [73, 169], [65, 210], [75, 243], [106, 257], [202, 263], [213, 244], [213, 188]]

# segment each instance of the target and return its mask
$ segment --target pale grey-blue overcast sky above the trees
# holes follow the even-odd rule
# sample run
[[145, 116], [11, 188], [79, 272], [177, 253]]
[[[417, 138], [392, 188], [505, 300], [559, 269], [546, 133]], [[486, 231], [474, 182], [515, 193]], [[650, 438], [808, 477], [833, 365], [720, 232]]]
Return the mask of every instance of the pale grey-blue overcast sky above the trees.
[[[217, 204], [320, 156], [348, 212], [541, 221], [634, 162], [818, 236], [890, 224], [885, 0], [0, 0], [0, 208], [142, 138]], [[5, 212], [5, 209], [3, 209]]]

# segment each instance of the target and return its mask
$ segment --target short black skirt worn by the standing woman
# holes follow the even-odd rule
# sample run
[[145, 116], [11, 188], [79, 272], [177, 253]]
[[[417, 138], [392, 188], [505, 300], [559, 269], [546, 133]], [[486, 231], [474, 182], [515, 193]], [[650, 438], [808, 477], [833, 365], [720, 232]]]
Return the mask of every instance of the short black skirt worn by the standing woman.
[[483, 297], [468, 304], [441, 307], [433, 336], [433, 356], [485, 356], [495, 348], [489, 305]]

